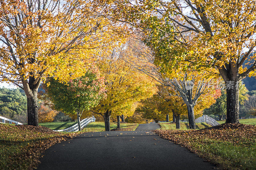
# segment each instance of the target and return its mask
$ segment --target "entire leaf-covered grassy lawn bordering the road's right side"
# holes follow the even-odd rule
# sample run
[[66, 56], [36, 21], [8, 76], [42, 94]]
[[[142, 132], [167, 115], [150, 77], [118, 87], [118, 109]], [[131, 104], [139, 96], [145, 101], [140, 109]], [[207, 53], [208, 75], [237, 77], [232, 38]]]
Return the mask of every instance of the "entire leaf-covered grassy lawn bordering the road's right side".
[[199, 130], [155, 130], [164, 139], [217, 164], [220, 169], [255, 169], [256, 127], [221, 124]]

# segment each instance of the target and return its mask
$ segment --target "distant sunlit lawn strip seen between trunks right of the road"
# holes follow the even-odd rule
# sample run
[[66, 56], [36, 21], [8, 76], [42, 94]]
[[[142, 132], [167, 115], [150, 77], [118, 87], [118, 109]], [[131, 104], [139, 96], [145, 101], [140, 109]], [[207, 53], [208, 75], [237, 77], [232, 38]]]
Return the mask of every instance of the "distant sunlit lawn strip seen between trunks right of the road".
[[[161, 129], [176, 129], [175, 123], [161, 122], [158, 124], [160, 125]], [[211, 126], [207, 123], [196, 123], [196, 129], [202, 129], [202, 128], [208, 128], [208, 127], [211, 127]], [[180, 129], [189, 129], [188, 122], [185, 122], [185, 123], [180, 122]]]

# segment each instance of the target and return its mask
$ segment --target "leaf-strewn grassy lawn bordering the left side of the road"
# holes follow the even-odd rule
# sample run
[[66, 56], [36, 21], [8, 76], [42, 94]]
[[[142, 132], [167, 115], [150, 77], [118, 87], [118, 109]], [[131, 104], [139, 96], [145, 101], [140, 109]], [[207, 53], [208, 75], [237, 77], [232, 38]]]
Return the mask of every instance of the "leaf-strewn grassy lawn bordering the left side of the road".
[[45, 149], [75, 135], [40, 126], [0, 123], [0, 169], [32, 169]]

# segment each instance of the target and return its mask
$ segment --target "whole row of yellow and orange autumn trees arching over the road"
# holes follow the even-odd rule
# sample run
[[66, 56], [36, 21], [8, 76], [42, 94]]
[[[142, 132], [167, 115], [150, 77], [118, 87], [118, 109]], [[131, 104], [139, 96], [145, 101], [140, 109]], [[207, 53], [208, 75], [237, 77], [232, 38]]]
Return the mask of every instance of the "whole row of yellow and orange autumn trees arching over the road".
[[132, 114], [154, 94], [186, 105], [195, 129], [195, 113], [221, 96], [214, 82], [222, 81], [226, 123], [239, 123], [239, 82], [256, 69], [255, 3], [1, 1], [1, 81], [24, 90], [33, 126], [41, 82], [56, 108], [77, 120], [101, 115], [110, 130], [110, 116]]

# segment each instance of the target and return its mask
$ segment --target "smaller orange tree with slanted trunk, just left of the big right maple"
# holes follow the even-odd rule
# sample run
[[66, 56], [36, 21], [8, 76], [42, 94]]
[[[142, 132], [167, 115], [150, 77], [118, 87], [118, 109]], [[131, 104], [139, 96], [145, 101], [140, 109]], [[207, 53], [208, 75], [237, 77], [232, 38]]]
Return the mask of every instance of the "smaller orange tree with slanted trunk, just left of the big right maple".
[[162, 84], [167, 87], [161, 88], [159, 93], [164, 97], [166, 95], [180, 97], [187, 106], [189, 128], [195, 129], [195, 108], [198, 113], [202, 112], [220, 96], [220, 90], [216, 89], [212, 80], [213, 78], [204, 78], [196, 72], [181, 73], [180, 78], [162, 79]]

